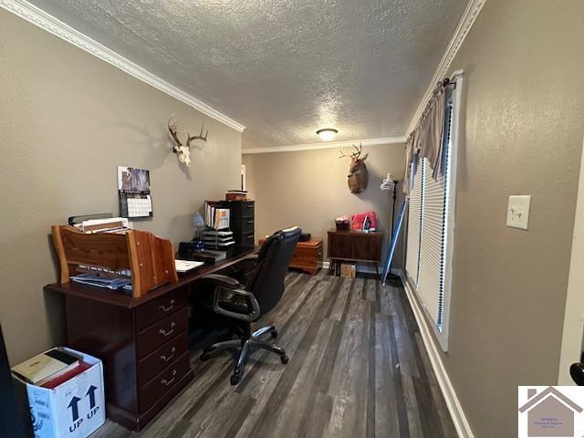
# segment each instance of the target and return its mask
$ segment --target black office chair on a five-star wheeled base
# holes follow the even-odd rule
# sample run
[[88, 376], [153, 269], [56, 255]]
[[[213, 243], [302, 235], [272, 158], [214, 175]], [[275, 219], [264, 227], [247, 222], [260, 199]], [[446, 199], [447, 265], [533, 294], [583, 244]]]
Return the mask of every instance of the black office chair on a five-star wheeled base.
[[251, 331], [251, 323], [274, 308], [284, 293], [284, 278], [294, 255], [302, 230], [297, 226], [278, 231], [266, 239], [257, 255], [255, 274], [240, 283], [230, 276], [211, 274], [203, 282], [213, 286], [213, 311], [228, 318], [239, 339], [217, 342], [203, 349], [201, 360], [223, 349], [240, 349], [235, 362], [231, 384], [236, 385], [244, 375], [245, 360], [251, 349], [267, 349], [280, 356], [282, 363], [288, 362], [286, 351], [260, 339], [266, 333], [276, 338], [274, 326]]

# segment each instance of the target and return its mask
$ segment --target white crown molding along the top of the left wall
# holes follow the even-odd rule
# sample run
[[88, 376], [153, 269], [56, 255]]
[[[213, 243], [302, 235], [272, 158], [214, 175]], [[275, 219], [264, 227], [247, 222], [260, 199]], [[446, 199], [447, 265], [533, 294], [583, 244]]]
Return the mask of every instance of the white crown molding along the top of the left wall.
[[30, 4], [26, 0], [0, 0], [0, 7], [25, 19], [29, 23], [46, 30], [54, 36], [64, 39], [73, 46], [85, 50], [94, 57], [99, 57], [99, 59], [106, 61], [112, 66], [120, 68], [120, 70], [128, 73], [134, 78], [140, 79], [142, 82], [151, 85], [155, 89], [160, 89], [162, 92], [172, 96], [172, 98], [182, 101], [212, 119], [218, 120], [239, 132], [245, 130], [245, 126], [241, 123], [230, 119], [218, 110], [214, 110], [211, 106], [194, 98], [182, 89], [177, 89], [165, 80], [162, 80], [162, 78], [153, 75], [145, 68], [141, 68], [129, 59], [126, 59], [113, 50], [110, 50], [110, 48], [99, 44], [89, 36], [86, 36], [73, 27], [68, 26], [56, 17], [47, 14], [47, 12], [36, 7], [36, 5]]

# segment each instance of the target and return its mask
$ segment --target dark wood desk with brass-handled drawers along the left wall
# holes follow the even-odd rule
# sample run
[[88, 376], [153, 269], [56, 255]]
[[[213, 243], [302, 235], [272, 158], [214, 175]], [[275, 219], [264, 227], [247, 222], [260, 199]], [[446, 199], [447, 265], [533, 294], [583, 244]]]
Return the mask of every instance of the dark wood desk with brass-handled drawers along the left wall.
[[240, 263], [255, 248], [233, 248], [225, 260], [133, 298], [75, 283], [47, 285], [65, 295], [68, 346], [103, 360], [108, 418], [140, 431], [193, 380], [188, 294], [202, 276]]

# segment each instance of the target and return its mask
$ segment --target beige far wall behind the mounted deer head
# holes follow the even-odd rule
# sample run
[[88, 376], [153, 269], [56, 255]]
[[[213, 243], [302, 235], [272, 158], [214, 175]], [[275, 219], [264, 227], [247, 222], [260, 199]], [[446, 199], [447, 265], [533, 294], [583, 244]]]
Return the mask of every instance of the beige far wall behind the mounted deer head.
[[[349, 192], [349, 158], [339, 159], [336, 149], [245, 154], [247, 190], [256, 205], [256, 236], [297, 224], [313, 238], [324, 241], [326, 257], [327, 230], [335, 227], [335, 217], [373, 210], [387, 239], [392, 194], [382, 192], [380, 184], [388, 172], [403, 178], [403, 148], [403, 144], [363, 147], [362, 153], [369, 153], [365, 161], [369, 185], [360, 194]], [[400, 196], [396, 215], [401, 202]], [[402, 252], [403, 245], [400, 245], [394, 267], [402, 266]]]

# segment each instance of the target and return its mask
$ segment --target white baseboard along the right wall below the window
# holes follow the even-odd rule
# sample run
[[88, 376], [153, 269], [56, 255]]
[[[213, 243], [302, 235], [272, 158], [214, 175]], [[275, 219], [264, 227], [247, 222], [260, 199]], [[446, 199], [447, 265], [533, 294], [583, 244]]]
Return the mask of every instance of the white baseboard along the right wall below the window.
[[456, 432], [461, 438], [474, 438], [471, 426], [466, 420], [466, 416], [464, 415], [463, 407], [461, 406], [458, 397], [456, 397], [456, 392], [454, 391], [452, 382], [450, 381], [448, 373], [444, 368], [443, 361], [440, 357], [440, 352], [438, 351], [440, 347], [438, 347], [433, 340], [432, 328], [428, 327], [428, 322], [426, 321], [426, 318], [424, 318], [422, 308], [420, 308], [418, 300], [414, 296], [414, 290], [410, 286], [410, 283], [406, 280], [405, 273], [401, 270], [399, 275], [401, 276], [401, 283], [403, 283], [406, 295], [410, 301], [410, 306], [412, 306], [413, 316], [418, 322], [423, 344], [428, 351], [430, 363], [432, 364], [432, 368], [434, 370], [434, 374], [436, 375], [436, 380], [438, 381], [440, 390], [443, 393], [444, 401], [446, 401], [446, 406], [448, 407], [450, 416], [453, 419]]

